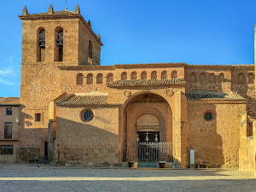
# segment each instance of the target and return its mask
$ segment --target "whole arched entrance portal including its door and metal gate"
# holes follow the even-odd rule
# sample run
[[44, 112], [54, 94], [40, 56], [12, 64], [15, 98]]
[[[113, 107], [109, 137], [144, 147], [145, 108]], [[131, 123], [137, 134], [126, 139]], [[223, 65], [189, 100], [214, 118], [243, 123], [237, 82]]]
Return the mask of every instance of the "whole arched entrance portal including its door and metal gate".
[[123, 119], [123, 162], [156, 166], [172, 161], [172, 109], [164, 98], [144, 93], [131, 99]]

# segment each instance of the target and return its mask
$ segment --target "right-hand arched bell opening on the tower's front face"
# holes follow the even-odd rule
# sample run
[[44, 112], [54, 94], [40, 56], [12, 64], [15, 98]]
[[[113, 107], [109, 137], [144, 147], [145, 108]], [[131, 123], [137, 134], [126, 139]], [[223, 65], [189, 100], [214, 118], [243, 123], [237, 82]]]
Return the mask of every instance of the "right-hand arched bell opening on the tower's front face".
[[63, 61], [64, 38], [63, 28], [61, 26], [55, 28], [55, 39], [55, 61]]

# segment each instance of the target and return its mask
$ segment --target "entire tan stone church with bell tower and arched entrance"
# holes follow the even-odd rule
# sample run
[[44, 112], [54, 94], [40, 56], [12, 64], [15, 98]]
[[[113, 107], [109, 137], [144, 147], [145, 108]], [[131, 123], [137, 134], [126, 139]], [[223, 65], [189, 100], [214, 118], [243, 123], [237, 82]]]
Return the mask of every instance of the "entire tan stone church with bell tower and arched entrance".
[[101, 37], [79, 5], [19, 17], [17, 162], [255, 171], [253, 64], [101, 66]]

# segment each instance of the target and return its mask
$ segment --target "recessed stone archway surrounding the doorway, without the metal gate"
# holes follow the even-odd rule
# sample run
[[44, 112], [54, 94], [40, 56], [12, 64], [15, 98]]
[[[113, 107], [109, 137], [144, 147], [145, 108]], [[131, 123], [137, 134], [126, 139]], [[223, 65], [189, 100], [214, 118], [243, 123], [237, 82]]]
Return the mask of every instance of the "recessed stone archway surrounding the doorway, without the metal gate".
[[172, 109], [163, 97], [153, 93], [133, 97], [123, 118], [122, 161], [137, 161], [137, 131], [159, 131], [160, 143], [172, 143]]

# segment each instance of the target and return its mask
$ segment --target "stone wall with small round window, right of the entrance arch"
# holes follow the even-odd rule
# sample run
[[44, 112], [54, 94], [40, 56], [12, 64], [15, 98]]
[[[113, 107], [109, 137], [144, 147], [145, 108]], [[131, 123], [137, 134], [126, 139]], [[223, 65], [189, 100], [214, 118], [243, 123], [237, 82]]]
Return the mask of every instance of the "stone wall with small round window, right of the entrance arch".
[[[211, 167], [238, 167], [238, 115], [245, 104], [189, 102], [189, 149], [195, 149], [195, 164]], [[214, 118], [204, 119], [211, 111]]]

